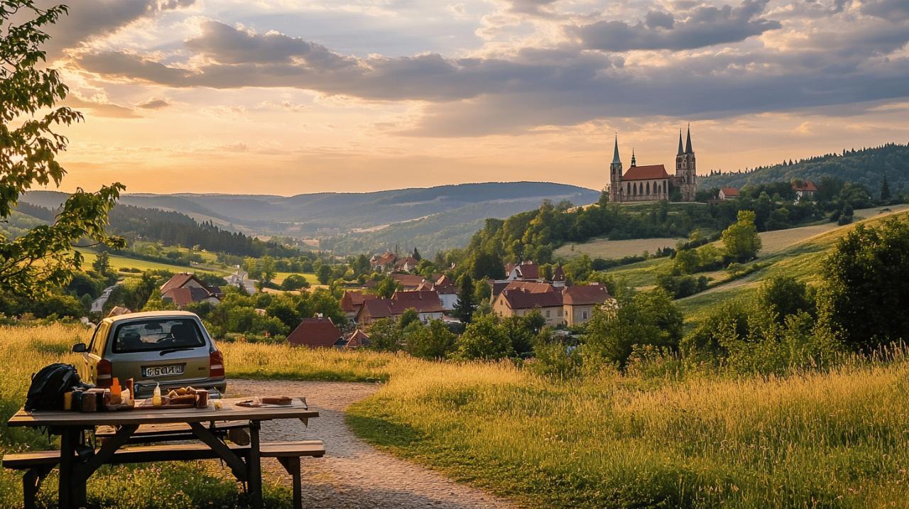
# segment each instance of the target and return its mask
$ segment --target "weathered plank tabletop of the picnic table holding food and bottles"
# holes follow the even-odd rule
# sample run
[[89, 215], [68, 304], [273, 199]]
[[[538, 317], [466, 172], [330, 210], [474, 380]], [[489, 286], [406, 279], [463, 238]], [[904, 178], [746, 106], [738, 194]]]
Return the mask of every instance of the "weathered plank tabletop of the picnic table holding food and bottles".
[[165, 410], [120, 410], [116, 412], [75, 412], [68, 410], [19, 409], [6, 424], [10, 426], [98, 426], [122, 424], [206, 423], [209, 421], [270, 421], [273, 419], [305, 419], [318, 417], [300, 400], [286, 406], [249, 408], [237, 406], [245, 398], [222, 398], [220, 410], [209, 408], [181, 408]]

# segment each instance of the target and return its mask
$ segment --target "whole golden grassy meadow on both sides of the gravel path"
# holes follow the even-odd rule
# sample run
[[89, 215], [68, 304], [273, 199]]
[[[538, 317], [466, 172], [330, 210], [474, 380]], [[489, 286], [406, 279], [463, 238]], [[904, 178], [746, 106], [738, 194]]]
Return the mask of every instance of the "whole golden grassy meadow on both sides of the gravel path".
[[[0, 327], [0, 354], [13, 366], [0, 375], [4, 421], [28, 375], [67, 358], [77, 337], [84, 329]], [[348, 414], [356, 433], [526, 507], [881, 507], [909, 496], [902, 356], [785, 378], [607, 371], [557, 382], [510, 363], [222, 346], [233, 376], [387, 381]], [[43, 434], [2, 429], [7, 451], [47, 446]], [[89, 483], [90, 503], [233, 506], [235, 484], [216, 472], [202, 463], [109, 468]], [[135, 484], [105, 494], [127, 474]], [[0, 475], [0, 505], [19, 506], [18, 474]], [[49, 481], [45, 505], [54, 499]], [[163, 489], [171, 483], [178, 495]], [[282, 490], [269, 484], [266, 504], [285, 503]]]

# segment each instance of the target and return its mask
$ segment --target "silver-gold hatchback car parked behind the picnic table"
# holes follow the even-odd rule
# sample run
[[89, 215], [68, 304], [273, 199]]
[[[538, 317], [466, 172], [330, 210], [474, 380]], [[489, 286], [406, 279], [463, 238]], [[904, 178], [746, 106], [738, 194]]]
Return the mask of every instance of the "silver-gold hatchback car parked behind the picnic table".
[[81, 354], [76, 369], [84, 382], [109, 387], [114, 378], [121, 385], [132, 378], [136, 398], [150, 397], [156, 384], [162, 394], [191, 385], [220, 397], [227, 384], [223, 354], [199, 316], [186, 311], [108, 316], [73, 352]]

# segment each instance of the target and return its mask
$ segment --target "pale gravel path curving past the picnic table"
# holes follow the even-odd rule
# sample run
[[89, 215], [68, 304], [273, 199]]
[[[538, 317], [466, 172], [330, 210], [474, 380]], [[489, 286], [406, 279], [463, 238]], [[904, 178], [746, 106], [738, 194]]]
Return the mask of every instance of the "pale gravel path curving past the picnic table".
[[[262, 424], [263, 441], [325, 441], [325, 457], [301, 460], [306, 506], [325, 509], [513, 507], [503, 499], [456, 484], [423, 466], [377, 451], [351, 433], [344, 422], [345, 409], [375, 393], [377, 388], [375, 384], [231, 380], [226, 395], [305, 395], [309, 407], [319, 411], [319, 418], [310, 420], [309, 427], [290, 420]], [[281, 475], [289, 485], [290, 476], [274, 459], [264, 459], [263, 469]]]

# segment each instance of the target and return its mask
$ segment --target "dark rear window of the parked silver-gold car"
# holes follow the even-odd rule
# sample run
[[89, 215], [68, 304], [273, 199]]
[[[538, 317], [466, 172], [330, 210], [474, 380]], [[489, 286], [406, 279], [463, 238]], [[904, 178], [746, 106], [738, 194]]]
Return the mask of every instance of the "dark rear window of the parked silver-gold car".
[[205, 346], [205, 339], [195, 320], [190, 318], [158, 318], [129, 322], [117, 327], [114, 352], [156, 352], [172, 348]]

